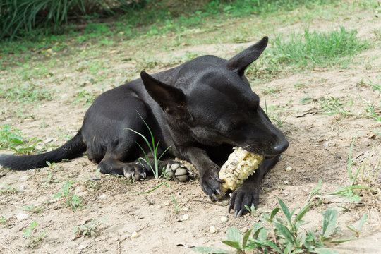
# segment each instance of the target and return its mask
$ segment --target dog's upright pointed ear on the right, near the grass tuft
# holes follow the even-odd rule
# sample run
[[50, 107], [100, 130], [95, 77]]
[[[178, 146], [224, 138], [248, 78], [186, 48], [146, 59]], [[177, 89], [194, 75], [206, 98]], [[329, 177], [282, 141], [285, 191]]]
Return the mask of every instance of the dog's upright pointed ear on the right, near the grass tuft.
[[239, 75], [243, 75], [245, 69], [250, 63], [257, 60], [260, 54], [265, 50], [269, 38], [263, 37], [260, 41], [253, 46], [243, 50], [243, 52], [236, 54], [226, 63], [226, 67], [231, 71], [236, 71]]

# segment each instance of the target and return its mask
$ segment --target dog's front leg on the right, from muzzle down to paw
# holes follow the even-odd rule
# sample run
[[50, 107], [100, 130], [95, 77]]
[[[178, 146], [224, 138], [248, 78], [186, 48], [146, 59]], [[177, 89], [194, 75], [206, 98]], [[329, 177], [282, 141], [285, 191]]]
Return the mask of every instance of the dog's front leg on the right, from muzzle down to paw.
[[263, 176], [277, 164], [279, 157], [280, 155], [265, 159], [260, 167], [255, 170], [255, 173], [231, 194], [228, 212], [234, 208], [234, 217], [241, 217], [248, 212], [245, 205], [248, 207], [252, 207], [253, 205], [255, 208], [258, 207], [260, 183], [262, 182]]

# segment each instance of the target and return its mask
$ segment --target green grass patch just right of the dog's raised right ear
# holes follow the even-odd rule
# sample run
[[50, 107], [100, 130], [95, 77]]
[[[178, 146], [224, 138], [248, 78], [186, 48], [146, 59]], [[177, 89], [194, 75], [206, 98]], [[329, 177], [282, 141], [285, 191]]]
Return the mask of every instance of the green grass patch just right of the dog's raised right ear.
[[271, 79], [287, 70], [315, 67], [345, 66], [352, 56], [370, 47], [367, 40], [356, 37], [356, 30], [344, 27], [330, 32], [310, 31], [294, 33], [288, 37], [277, 36], [255, 63], [248, 66], [250, 80]]

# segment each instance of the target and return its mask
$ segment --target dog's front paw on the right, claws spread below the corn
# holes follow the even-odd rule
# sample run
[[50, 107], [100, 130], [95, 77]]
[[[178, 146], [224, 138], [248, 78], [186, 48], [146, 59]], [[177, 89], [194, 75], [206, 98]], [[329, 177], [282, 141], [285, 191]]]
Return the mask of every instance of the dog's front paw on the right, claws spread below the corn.
[[259, 203], [259, 188], [253, 186], [240, 186], [231, 194], [228, 212], [234, 209], [234, 217], [246, 214], [248, 207], [257, 207]]

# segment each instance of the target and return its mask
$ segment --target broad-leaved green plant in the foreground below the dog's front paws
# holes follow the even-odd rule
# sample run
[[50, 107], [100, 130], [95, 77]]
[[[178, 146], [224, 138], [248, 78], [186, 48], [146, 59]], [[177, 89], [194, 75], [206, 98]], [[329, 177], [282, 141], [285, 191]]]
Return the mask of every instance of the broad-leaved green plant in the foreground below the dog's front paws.
[[[314, 232], [311, 230], [303, 231], [303, 217], [310, 209], [312, 202], [307, 202], [301, 210], [290, 211], [286, 204], [278, 198], [279, 207], [271, 212], [262, 213], [260, 223], [254, 224], [246, 234], [241, 234], [235, 228], [229, 228], [227, 240], [222, 241], [228, 246], [235, 248], [236, 253], [246, 253], [246, 250], [255, 250], [259, 253], [337, 253], [335, 250], [327, 248], [327, 243], [342, 243], [350, 241], [353, 238], [336, 239], [334, 238], [339, 227], [335, 226], [337, 222], [337, 210], [328, 208], [323, 214], [322, 231]], [[282, 211], [283, 218], [277, 217], [277, 213]], [[295, 214], [295, 215], [294, 215]], [[364, 219], [361, 219], [356, 230], [356, 236], [363, 225]], [[352, 229], [351, 229], [352, 230]], [[200, 253], [232, 253], [229, 250], [196, 247], [194, 251]]]

